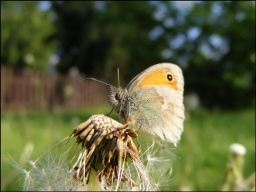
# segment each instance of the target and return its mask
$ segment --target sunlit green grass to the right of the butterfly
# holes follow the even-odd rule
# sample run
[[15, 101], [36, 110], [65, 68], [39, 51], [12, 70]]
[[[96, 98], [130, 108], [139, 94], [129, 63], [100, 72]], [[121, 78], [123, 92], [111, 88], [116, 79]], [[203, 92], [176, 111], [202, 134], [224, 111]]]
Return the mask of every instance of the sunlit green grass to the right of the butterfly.
[[255, 171], [255, 109], [198, 110], [187, 114], [185, 130], [175, 153], [173, 190], [221, 190], [225, 182], [229, 146], [246, 147], [244, 177]]

